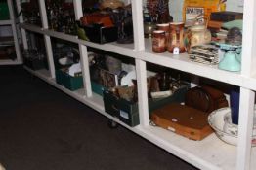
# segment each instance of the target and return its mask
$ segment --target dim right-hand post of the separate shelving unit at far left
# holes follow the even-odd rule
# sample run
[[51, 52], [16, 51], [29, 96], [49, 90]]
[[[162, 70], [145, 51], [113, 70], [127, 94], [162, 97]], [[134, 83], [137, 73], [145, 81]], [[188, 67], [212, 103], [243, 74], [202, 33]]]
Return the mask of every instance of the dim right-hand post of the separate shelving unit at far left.
[[15, 42], [15, 51], [16, 51], [16, 57], [17, 61], [21, 62], [21, 49], [20, 49], [20, 43], [18, 40], [18, 35], [17, 35], [17, 29], [16, 29], [16, 20], [15, 20], [15, 15], [14, 15], [14, 4], [13, 1], [8, 0], [8, 8], [9, 8], [9, 16], [12, 21], [12, 31], [13, 31], [13, 37], [14, 37], [14, 42]]

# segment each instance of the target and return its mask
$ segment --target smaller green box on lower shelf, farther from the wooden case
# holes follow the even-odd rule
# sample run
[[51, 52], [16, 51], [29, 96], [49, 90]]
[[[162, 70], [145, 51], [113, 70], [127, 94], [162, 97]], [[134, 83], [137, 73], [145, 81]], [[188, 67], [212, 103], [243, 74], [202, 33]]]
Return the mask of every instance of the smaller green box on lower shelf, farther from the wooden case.
[[56, 83], [59, 85], [64, 85], [64, 87], [70, 90], [76, 90], [83, 87], [83, 77], [79, 76], [70, 76], [64, 72], [64, 69], [56, 70]]

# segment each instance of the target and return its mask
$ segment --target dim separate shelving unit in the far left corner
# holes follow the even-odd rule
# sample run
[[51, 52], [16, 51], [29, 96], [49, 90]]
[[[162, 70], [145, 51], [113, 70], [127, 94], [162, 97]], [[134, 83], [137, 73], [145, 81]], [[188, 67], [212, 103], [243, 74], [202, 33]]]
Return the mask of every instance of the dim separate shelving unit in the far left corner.
[[[12, 27], [12, 33], [13, 33], [13, 42], [15, 46], [16, 51], [16, 59], [1, 59], [0, 65], [10, 65], [10, 64], [21, 64], [21, 50], [20, 50], [20, 44], [19, 39], [17, 35], [17, 20], [14, 16], [14, 4], [12, 0], [7, 0], [8, 9], [9, 9], [9, 16], [10, 19], [8, 20], [0, 20], [0, 28], [1, 26], [10, 25]], [[1, 40], [0, 40], [1, 41]]]

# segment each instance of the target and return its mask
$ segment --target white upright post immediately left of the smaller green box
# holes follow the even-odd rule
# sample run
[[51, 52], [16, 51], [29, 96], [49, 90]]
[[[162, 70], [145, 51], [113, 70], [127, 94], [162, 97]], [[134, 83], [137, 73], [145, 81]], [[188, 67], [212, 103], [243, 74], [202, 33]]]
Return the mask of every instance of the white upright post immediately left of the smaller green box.
[[[40, 9], [42, 28], [48, 29], [45, 1], [38, 0], [38, 4], [39, 4], [39, 9]], [[46, 52], [47, 52], [47, 60], [48, 60], [48, 67], [50, 70], [50, 74], [51, 74], [52, 78], [55, 78], [55, 66], [54, 66], [54, 57], [53, 57], [51, 37], [48, 35], [44, 35], [44, 41], [45, 41], [45, 48], [46, 48]]]

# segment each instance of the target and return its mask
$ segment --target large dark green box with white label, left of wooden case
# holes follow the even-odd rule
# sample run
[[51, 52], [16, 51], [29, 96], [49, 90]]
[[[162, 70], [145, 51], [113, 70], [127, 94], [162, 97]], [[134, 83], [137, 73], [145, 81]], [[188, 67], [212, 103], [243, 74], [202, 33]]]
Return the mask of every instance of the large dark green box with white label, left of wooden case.
[[[182, 86], [177, 89], [171, 96], [159, 99], [149, 99], [149, 114], [154, 110], [172, 102], [183, 102], [186, 91], [189, 86]], [[116, 97], [108, 90], [103, 92], [105, 112], [113, 117], [119, 118], [130, 126], [136, 126], [140, 123], [139, 109], [137, 102], [127, 101]]]

